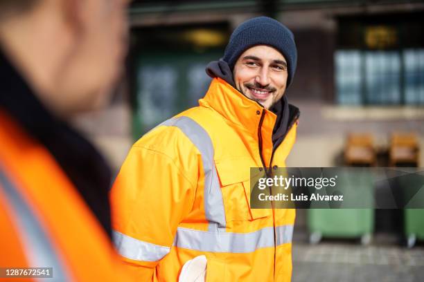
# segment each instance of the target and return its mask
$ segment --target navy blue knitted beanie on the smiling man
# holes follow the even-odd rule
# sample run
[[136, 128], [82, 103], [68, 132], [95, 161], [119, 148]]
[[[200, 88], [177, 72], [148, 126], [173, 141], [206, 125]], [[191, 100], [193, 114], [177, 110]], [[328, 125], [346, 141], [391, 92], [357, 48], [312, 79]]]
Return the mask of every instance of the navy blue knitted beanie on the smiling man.
[[288, 66], [287, 87], [292, 83], [297, 64], [297, 49], [293, 33], [282, 23], [269, 17], [256, 17], [240, 24], [233, 31], [222, 58], [231, 70], [245, 50], [267, 45], [276, 48], [284, 56]]

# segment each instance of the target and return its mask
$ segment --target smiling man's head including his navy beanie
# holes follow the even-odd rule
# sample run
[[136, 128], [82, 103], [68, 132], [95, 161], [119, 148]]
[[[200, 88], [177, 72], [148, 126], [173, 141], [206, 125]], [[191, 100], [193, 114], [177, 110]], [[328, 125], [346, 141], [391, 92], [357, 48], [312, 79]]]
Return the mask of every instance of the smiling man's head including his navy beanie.
[[270, 109], [292, 82], [297, 49], [292, 32], [283, 24], [256, 17], [233, 31], [222, 59], [233, 71], [238, 91]]

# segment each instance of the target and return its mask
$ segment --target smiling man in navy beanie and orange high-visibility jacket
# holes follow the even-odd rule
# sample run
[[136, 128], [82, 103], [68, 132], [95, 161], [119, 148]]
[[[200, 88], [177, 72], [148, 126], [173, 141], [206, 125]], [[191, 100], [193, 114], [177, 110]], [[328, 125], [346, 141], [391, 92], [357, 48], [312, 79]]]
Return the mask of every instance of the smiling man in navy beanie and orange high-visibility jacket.
[[233, 31], [200, 106], [137, 141], [112, 187], [118, 252], [141, 281], [290, 281], [294, 209], [251, 209], [251, 167], [285, 167], [299, 109], [294, 36], [258, 17]]

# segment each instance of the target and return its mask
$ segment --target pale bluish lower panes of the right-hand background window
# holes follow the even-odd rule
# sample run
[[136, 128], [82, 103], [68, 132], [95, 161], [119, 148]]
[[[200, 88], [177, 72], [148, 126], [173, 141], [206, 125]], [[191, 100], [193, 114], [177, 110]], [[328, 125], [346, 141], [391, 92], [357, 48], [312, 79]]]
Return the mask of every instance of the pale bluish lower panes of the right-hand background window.
[[424, 48], [337, 50], [337, 103], [424, 105]]

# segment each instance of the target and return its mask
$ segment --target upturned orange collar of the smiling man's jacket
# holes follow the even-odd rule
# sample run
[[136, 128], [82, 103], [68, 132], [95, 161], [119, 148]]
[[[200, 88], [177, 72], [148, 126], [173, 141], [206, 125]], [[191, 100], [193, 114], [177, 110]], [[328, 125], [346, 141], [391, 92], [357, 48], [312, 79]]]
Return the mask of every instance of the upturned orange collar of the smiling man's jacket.
[[[252, 135], [258, 135], [261, 115], [264, 115], [261, 130], [265, 140], [271, 140], [276, 115], [257, 102], [242, 95], [236, 88], [219, 77], [212, 79], [209, 90], [200, 101], [200, 106], [210, 106], [226, 120]], [[265, 135], [264, 135], [265, 133]], [[268, 136], [269, 135], [269, 136]]]

